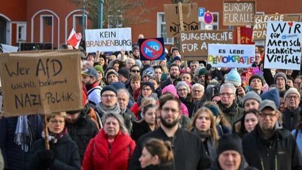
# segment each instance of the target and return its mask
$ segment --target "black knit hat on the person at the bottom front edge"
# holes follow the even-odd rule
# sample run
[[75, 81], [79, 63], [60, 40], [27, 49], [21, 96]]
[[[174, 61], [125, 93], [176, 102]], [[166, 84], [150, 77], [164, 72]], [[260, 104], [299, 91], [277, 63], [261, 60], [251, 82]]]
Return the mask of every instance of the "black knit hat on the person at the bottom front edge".
[[237, 151], [240, 155], [243, 155], [241, 139], [238, 135], [226, 134], [218, 140], [217, 155], [219, 156], [221, 153], [228, 150]]

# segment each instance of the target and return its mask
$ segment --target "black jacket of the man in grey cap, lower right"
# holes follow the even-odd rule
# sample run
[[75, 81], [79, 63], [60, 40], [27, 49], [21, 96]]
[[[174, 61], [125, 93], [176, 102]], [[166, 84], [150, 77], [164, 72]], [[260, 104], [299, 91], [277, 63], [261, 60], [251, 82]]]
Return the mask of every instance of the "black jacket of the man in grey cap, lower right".
[[278, 124], [275, 125], [273, 136], [267, 140], [262, 137], [259, 124], [243, 138], [246, 161], [258, 169], [263, 169], [261, 159], [264, 169], [275, 169], [275, 163], [277, 169], [302, 169], [302, 159], [294, 136]]

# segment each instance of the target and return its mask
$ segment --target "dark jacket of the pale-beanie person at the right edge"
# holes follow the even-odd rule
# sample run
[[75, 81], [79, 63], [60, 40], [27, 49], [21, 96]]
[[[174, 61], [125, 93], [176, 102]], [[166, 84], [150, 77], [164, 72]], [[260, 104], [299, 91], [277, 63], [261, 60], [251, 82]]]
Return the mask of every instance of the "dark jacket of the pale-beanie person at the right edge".
[[297, 108], [295, 111], [291, 112], [288, 108], [282, 112], [283, 127], [289, 131], [295, 129], [297, 123], [300, 121], [301, 108]]

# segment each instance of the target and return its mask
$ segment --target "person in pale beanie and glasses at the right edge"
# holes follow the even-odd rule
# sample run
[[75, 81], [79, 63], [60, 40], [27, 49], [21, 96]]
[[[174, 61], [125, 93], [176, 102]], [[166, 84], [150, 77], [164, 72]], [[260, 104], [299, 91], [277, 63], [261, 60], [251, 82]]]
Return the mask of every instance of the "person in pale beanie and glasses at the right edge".
[[296, 124], [300, 121], [301, 108], [300, 93], [296, 88], [290, 88], [284, 95], [286, 109], [282, 112], [282, 121], [285, 129], [292, 131], [295, 129]]

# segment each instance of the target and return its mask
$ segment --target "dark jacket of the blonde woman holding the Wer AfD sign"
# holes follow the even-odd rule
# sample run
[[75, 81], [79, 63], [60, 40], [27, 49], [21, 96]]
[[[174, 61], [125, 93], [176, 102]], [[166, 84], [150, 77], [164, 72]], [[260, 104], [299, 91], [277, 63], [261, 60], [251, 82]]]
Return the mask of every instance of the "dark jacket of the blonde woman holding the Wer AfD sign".
[[[48, 169], [81, 169], [78, 146], [70, 138], [68, 133], [59, 138], [56, 143], [50, 141], [49, 146], [55, 155], [55, 160]], [[45, 151], [44, 139], [37, 140], [31, 152], [28, 154], [27, 169], [47, 169], [42, 168], [44, 162], [41, 162], [38, 157], [39, 151]]]

